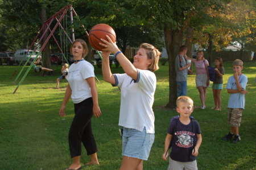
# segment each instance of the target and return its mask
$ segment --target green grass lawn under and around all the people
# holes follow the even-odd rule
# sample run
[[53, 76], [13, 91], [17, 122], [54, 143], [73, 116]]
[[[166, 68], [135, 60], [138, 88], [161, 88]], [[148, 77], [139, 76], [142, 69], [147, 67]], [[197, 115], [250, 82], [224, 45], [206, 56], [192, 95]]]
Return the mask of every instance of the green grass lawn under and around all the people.
[[[255, 150], [255, 63], [244, 64], [243, 74], [248, 77], [246, 105], [240, 128], [241, 142], [223, 142], [221, 137], [229, 131], [226, 111], [229, 95], [222, 90], [222, 111], [214, 107], [212, 89], [207, 90], [207, 109], [201, 110], [199, 92], [195, 88], [195, 75], [188, 76], [188, 96], [195, 102], [193, 117], [199, 121], [203, 143], [197, 157], [199, 169], [256, 169]], [[60, 70], [60, 66], [53, 66]], [[11, 79], [16, 66], [0, 67], [0, 169], [65, 169], [71, 164], [68, 148], [68, 130], [73, 118], [73, 103], [67, 105], [65, 118], [59, 117], [67, 81], [56, 86], [56, 76], [44, 76], [30, 71], [13, 94], [19, 80]], [[121, 68], [113, 68], [121, 73]], [[99, 166], [83, 169], [119, 169], [121, 165], [122, 139], [118, 132], [120, 92], [118, 88], [102, 80], [100, 68], [95, 68], [99, 104], [102, 116], [92, 119], [94, 136], [98, 146]], [[162, 160], [164, 139], [175, 110], [164, 106], [168, 103], [168, 65], [160, 65], [155, 72], [158, 79], [155, 93], [155, 142], [144, 169], [167, 169], [168, 162]], [[22, 74], [23, 75], [23, 74]], [[232, 75], [232, 64], [225, 63], [224, 86]], [[82, 163], [89, 161], [82, 148]]]

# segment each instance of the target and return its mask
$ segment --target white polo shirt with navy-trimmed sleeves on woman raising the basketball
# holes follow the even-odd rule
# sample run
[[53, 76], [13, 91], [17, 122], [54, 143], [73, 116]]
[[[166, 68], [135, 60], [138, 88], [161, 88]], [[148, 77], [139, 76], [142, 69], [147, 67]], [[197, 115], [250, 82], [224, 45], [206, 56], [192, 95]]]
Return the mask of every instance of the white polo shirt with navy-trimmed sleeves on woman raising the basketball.
[[116, 84], [121, 88], [121, 106], [119, 126], [134, 128], [147, 133], [155, 133], [155, 116], [152, 110], [156, 89], [155, 74], [147, 70], [138, 70], [135, 82], [127, 74], [114, 74]]

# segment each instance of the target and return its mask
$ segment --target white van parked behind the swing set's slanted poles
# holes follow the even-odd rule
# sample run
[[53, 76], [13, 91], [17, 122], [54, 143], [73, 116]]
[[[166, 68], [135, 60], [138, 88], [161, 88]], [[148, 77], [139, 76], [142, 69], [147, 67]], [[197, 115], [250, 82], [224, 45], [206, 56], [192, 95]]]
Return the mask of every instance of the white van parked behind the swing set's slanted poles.
[[38, 55], [38, 53], [39, 51], [33, 52], [32, 50], [30, 50], [27, 52], [27, 49], [17, 49], [14, 53], [15, 62], [16, 64], [19, 64], [20, 62], [26, 63], [28, 57], [30, 57], [30, 55], [32, 54], [30, 61], [28, 61], [28, 63], [30, 64], [31, 61], [35, 59], [36, 55]]

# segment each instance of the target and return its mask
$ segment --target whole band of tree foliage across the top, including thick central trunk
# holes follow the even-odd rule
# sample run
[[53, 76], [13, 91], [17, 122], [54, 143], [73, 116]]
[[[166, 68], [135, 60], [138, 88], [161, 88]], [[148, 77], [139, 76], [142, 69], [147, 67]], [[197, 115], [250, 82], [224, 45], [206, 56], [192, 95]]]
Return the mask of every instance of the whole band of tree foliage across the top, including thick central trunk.
[[[75, 28], [76, 37], [87, 39], [81, 24], [89, 32], [95, 24], [106, 23], [114, 28], [117, 45], [123, 52], [127, 47], [138, 47], [143, 42], [159, 49], [165, 45], [170, 65], [167, 107], [175, 107], [174, 61], [184, 42], [188, 46], [197, 43], [209, 53], [234, 42], [241, 43], [244, 49], [255, 50], [254, 0], [2, 0], [1, 49], [14, 51], [28, 47], [42, 26], [42, 11], [45, 10], [46, 18], [49, 18], [67, 3], [72, 4], [79, 15], [66, 30]], [[55, 34], [59, 36], [60, 33]]]

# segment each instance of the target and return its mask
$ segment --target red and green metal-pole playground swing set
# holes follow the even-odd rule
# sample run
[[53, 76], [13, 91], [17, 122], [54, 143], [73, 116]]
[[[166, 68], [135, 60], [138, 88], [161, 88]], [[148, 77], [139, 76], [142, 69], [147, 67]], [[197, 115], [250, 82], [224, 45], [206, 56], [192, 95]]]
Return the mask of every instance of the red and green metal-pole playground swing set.
[[[15, 83], [16, 80], [18, 80], [18, 77], [19, 77], [20, 74], [22, 73], [23, 69], [26, 67], [28, 61], [31, 60], [31, 56], [34, 54], [34, 52], [35, 52], [36, 49], [38, 48], [38, 45], [40, 44], [40, 42], [42, 41], [42, 39], [44, 38], [44, 36], [46, 36], [47, 31], [49, 31], [50, 33], [49, 33], [49, 35], [48, 35], [46, 41], [43, 43], [42, 47], [40, 48], [40, 51], [39, 51], [39, 53], [36, 55], [35, 59], [34, 59], [33, 61], [31, 61], [30, 67], [28, 67], [27, 71], [24, 73], [22, 79], [19, 81], [19, 84], [16, 86], [16, 89], [14, 90], [13, 94], [15, 94], [15, 93], [16, 93], [16, 90], [18, 90], [19, 85], [23, 82], [24, 78], [27, 76], [28, 72], [30, 71], [30, 69], [31, 69], [32, 66], [34, 65], [35, 61], [38, 59], [38, 57], [39, 57], [40, 54], [42, 53], [44, 47], [46, 47], [46, 44], [48, 43], [48, 41], [49, 41], [49, 39], [50, 39], [51, 37], [55, 40], [55, 42], [56, 42], [56, 44], [57, 44], [57, 47], [60, 49], [60, 52], [61, 52], [61, 54], [62, 54], [63, 59], [65, 59], [65, 61], [68, 63], [67, 57], [64, 55], [65, 50], [64, 50], [64, 52], [63, 52], [63, 50], [62, 50], [63, 48], [61, 48], [61, 47], [64, 46], [64, 49], [66, 49], [66, 51], [68, 51], [67, 42], [65, 42], [64, 45], [62, 44], [64, 35], [66, 36], [66, 40], [67, 40], [67, 41], [69, 40], [69, 42], [70, 42], [71, 44], [75, 41], [74, 29], [71, 28], [71, 34], [72, 34], [72, 40], [71, 40], [71, 39], [69, 38], [67, 32], [65, 31], [65, 29], [64, 29], [63, 26], [61, 25], [61, 20], [63, 20], [64, 16], [66, 15], [66, 26], [67, 26], [67, 11], [68, 11], [68, 10], [70, 11], [71, 23], [73, 23], [73, 14], [74, 14], [75, 16], [77, 16], [77, 14], [76, 14], [76, 11], [73, 9], [72, 5], [68, 5], [68, 6], [63, 7], [63, 9], [59, 10], [56, 14], [52, 15], [51, 18], [49, 18], [48, 20], [46, 20], [46, 22], [44, 22], [42, 28], [40, 29], [40, 31], [39, 31], [38, 34], [36, 35], [35, 39], [34, 39], [33, 42], [31, 43], [30, 47], [28, 48], [28, 51], [30, 51], [31, 47], [33, 47], [33, 45], [34, 45], [35, 48], [34, 48], [33, 52], [32, 52], [31, 55], [28, 57], [27, 61], [24, 63], [22, 69], [20, 70], [19, 74], [16, 76], [16, 78], [15, 78], [15, 80], [14, 80], [13, 83]], [[51, 26], [53, 20], [56, 20], [57, 23], [55, 24], [55, 26], [54, 26], [54, 27], [52, 28], [52, 30], [51, 30], [50, 26]], [[63, 23], [64, 23], [64, 22], [63, 22]], [[57, 28], [58, 26], [59, 26], [59, 29], [60, 29], [61, 31], [63, 31], [63, 36], [62, 36], [62, 34], [61, 34], [61, 31], [60, 31], [61, 46], [59, 45], [59, 43], [57, 42], [55, 36], [53, 35], [53, 32], [55, 32], [55, 30], [56, 30], [56, 28]], [[65, 26], [65, 25], [64, 25], [64, 26]], [[88, 32], [86, 31], [84, 25], [81, 25], [81, 26], [82, 26], [82, 28], [84, 28], [85, 34], [86, 34], [87, 36], [89, 36], [89, 34], [88, 34]], [[43, 28], [44, 28], [44, 29], [43, 29]], [[44, 32], [43, 32], [43, 30], [44, 30]], [[42, 34], [42, 32], [43, 32], [43, 34]], [[42, 34], [42, 36], [39, 38], [39, 35], [41, 35], [41, 34]], [[38, 38], [39, 38], [39, 40], [38, 40]], [[36, 42], [36, 40], [38, 40], [38, 42]], [[65, 48], [65, 45], [66, 45], [66, 48]], [[27, 51], [27, 53], [28, 53], [28, 51]], [[98, 55], [99, 55], [100, 58], [102, 59], [102, 56], [101, 56], [100, 52], [98, 52], [98, 51], [96, 51], [96, 52], [98, 53]], [[67, 52], [66, 52], [66, 54], [67, 54]], [[23, 60], [24, 60], [24, 58], [25, 58], [25, 57], [23, 57]], [[64, 62], [64, 60], [62, 60], [62, 62]], [[20, 66], [21, 63], [23, 63], [23, 61], [21, 61], [21, 62], [19, 63], [19, 66]], [[63, 63], [63, 64], [64, 64], [64, 63]], [[69, 63], [68, 63], [68, 65], [69, 65]], [[15, 75], [15, 73], [16, 73], [16, 71], [14, 72], [13, 76]], [[95, 76], [95, 78], [96, 78], [96, 80], [98, 81], [98, 78], [97, 78], [96, 76]], [[98, 81], [98, 82], [100, 82], [100, 81]]]

